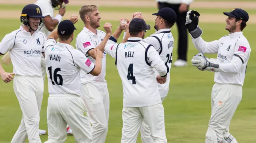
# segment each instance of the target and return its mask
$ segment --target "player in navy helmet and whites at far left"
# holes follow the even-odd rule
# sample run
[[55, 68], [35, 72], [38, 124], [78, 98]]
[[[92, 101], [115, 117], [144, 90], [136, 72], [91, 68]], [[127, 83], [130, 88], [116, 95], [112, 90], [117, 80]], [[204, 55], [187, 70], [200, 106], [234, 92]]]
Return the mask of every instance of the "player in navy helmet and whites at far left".
[[[0, 43], [0, 55], [10, 51], [13, 73], [5, 72], [0, 64], [2, 80], [14, 80], [14, 92], [22, 110], [22, 120], [11, 143], [41, 143], [39, 137], [40, 110], [44, 92], [41, 71], [41, 52], [46, 37], [39, 30], [43, 27], [42, 10], [36, 4], [26, 5], [21, 13], [23, 25], [5, 35]], [[12, 75], [14, 75], [14, 78]]]

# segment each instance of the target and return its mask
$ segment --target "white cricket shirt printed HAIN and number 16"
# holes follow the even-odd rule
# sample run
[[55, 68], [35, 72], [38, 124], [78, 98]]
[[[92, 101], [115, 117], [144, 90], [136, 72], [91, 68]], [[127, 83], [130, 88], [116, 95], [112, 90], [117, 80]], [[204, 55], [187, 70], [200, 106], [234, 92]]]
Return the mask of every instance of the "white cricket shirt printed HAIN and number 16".
[[89, 74], [95, 65], [69, 44], [48, 39], [44, 45], [49, 94], [81, 95], [81, 71]]

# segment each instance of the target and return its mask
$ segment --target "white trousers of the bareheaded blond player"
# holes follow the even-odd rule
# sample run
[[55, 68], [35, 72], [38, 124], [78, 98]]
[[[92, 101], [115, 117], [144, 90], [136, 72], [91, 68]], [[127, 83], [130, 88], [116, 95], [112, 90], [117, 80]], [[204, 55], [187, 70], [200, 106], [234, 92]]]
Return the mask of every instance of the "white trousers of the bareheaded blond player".
[[93, 143], [105, 143], [109, 116], [108, 90], [100, 91], [91, 83], [82, 84], [82, 98], [92, 122]]

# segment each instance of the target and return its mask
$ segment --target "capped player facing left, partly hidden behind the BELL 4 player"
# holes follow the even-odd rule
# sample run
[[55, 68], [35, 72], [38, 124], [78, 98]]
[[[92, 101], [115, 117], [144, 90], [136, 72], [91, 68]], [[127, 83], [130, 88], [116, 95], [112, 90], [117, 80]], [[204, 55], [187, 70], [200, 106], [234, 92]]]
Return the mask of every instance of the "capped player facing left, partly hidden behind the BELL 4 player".
[[[141, 12], [135, 12], [133, 17], [140, 15]], [[166, 67], [168, 67], [168, 74], [166, 78], [166, 83], [158, 84], [158, 90], [160, 92], [160, 97], [162, 102], [164, 98], [167, 96], [169, 91], [169, 84], [170, 84], [170, 69], [172, 64], [172, 50], [173, 50], [173, 43], [174, 38], [170, 29], [176, 22], [176, 13], [171, 8], [162, 8], [157, 13], [152, 14], [157, 16], [155, 22], [155, 30], [156, 32], [149, 37], [144, 39], [145, 43], [153, 45], [156, 51], [159, 53], [162, 61], [164, 61]], [[126, 29], [125, 29], [126, 31]], [[126, 32], [127, 33], [127, 32]], [[130, 37], [129, 33], [124, 33], [124, 40]], [[155, 70], [155, 77], [157, 77], [158, 72]], [[153, 142], [152, 138], [150, 137], [150, 130], [148, 125], [146, 125], [145, 120], [142, 121], [142, 126], [140, 128], [141, 139], [142, 143], [151, 143]]]

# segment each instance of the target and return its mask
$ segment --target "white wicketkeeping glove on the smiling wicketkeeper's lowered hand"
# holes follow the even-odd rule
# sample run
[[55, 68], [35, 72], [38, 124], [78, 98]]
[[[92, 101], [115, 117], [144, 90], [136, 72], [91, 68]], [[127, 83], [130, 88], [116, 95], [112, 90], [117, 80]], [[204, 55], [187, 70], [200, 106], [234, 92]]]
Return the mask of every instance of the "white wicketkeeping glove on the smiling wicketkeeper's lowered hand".
[[203, 53], [196, 54], [192, 60], [192, 65], [196, 66], [201, 71], [211, 71], [218, 72], [219, 71], [219, 60], [218, 59], [208, 59], [204, 56]]

